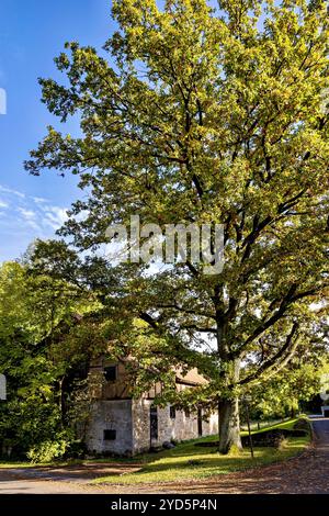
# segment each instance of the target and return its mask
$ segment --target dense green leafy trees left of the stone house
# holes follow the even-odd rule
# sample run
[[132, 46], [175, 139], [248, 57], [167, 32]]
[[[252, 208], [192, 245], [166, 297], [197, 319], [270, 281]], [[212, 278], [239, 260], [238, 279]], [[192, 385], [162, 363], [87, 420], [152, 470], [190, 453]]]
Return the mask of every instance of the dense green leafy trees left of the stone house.
[[71, 396], [100, 349], [90, 332], [84, 329], [83, 346], [78, 338], [82, 316], [97, 310], [91, 295], [83, 291], [82, 298], [76, 285], [46, 276], [46, 269], [39, 273], [36, 256], [35, 262], [30, 253], [24, 265], [0, 267], [0, 371], [8, 386], [0, 405], [0, 453], [26, 457], [43, 447], [50, 460], [76, 437]]

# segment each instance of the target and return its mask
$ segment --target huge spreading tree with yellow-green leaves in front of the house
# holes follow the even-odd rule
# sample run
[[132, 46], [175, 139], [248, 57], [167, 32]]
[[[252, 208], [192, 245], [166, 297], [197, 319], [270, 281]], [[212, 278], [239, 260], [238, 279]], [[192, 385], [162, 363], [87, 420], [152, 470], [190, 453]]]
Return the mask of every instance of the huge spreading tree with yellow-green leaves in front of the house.
[[63, 229], [80, 250], [133, 214], [224, 225], [222, 274], [132, 265], [104, 298], [146, 322], [166, 356], [185, 363], [201, 346], [227, 452], [240, 446], [241, 389], [288, 363], [328, 288], [328, 18], [320, 0], [218, 5], [115, 0], [109, 58], [69, 43], [56, 59], [65, 86], [41, 80], [49, 111], [78, 114], [82, 135], [50, 127], [26, 168], [80, 176], [88, 195]]

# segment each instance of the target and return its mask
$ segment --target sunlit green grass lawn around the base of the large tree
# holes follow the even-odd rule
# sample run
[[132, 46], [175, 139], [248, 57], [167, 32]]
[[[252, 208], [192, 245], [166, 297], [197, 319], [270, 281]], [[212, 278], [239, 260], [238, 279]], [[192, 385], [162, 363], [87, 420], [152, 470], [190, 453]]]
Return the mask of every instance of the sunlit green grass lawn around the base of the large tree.
[[[292, 428], [297, 419], [291, 419], [268, 428]], [[268, 428], [262, 428], [264, 431]], [[253, 431], [256, 434], [256, 431]], [[144, 465], [139, 471], [121, 475], [103, 476], [94, 480], [94, 483], [139, 484], [155, 482], [174, 482], [180, 480], [206, 479], [213, 475], [226, 474], [238, 470], [270, 464], [290, 459], [300, 453], [310, 442], [310, 436], [291, 437], [281, 449], [256, 448], [254, 459], [250, 451], [230, 452], [222, 456], [217, 452], [215, 440], [217, 436], [195, 439], [178, 445], [171, 450], [161, 451], [157, 455], [146, 453], [135, 457], [134, 462], [139, 460]], [[197, 440], [214, 441], [214, 447], [195, 447]], [[131, 459], [132, 460], [132, 459]]]

